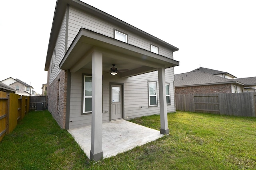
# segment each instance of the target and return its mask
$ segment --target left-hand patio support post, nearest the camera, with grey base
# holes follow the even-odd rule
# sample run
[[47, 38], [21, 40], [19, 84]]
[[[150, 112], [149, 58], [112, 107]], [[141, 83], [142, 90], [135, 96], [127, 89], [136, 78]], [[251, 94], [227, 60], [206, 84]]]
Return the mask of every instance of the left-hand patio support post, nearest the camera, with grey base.
[[102, 53], [92, 53], [92, 150], [90, 160], [103, 159], [102, 151]]

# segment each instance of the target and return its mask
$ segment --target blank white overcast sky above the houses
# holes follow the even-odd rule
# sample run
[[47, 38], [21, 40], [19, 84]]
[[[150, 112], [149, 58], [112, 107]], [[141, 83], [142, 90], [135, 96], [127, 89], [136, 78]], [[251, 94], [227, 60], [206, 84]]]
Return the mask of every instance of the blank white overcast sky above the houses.
[[[256, 76], [255, 0], [82, 2], [177, 47], [175, 74], [201, 66], [237, 78]], [[42, 94], [55, 5], [56, 0], [1, 2], [0, 81], [18, 78]]]

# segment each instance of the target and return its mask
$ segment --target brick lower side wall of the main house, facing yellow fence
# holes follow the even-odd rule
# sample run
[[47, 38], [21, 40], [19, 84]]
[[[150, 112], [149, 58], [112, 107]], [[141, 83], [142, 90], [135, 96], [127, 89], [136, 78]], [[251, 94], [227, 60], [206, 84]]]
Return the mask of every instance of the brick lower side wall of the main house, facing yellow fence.
[[[49, 74], [50, 71], [48, 71], [48, 80]], [[61, 128], [65, 128], [66, 121], [67, 75], [67, 71], [62, 70], [47, 86], [48, 110]]]

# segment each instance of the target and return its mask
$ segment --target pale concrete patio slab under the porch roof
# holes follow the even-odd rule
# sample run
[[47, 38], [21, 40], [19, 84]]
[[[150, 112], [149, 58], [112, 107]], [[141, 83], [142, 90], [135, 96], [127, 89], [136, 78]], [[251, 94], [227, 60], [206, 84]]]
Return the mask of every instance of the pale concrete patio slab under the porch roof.
[[[91, 126], [68, 130], [76, 142], [90, 158]], [[103, 157], [115, 156], [118, 153], [133, 149], [163, 137], [160, 131], [138, 125], [123, 119], [102, 124]]]

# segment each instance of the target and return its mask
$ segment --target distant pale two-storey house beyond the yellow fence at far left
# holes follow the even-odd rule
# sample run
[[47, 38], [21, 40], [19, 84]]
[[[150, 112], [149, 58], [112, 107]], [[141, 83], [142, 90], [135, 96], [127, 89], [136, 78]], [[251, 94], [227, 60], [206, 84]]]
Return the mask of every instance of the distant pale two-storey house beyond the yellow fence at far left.
[[18, 78], [14, 79], [12, 77], [9, 77], [9, 78], [6, 78], [5, 80], [2, 80], [1, 82], [15, 89], [17, 91], [16, 94], [18, 95], [22, 95], [22, 96], [33, 95], [33, 87], [22, 82]]

